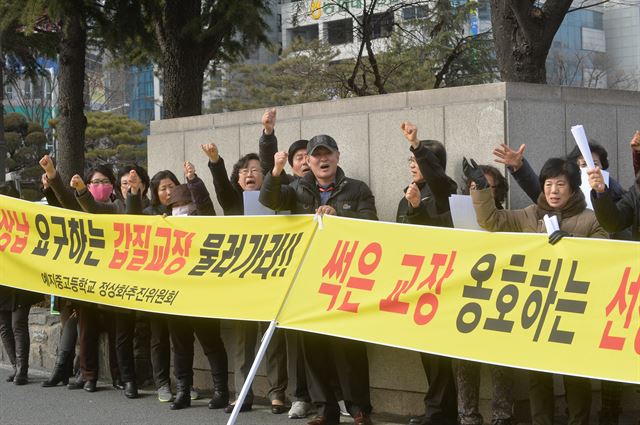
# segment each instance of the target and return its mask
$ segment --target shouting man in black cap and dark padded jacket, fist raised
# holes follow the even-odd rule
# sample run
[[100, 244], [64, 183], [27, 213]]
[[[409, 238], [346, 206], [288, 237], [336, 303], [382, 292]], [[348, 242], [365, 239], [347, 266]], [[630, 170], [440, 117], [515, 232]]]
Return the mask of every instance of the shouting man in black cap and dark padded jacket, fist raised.
[[[282, 184], [287, 152], [278, 152], [274, 167], [265, 177], [260, 202], [293, 214], [329, 214], [377, 220], [375, 200], [362, 181], [348, 178], [338, 167], [340, 152], [336, 141], [327, 135], [311, 138], [306, 162], [311, 172]], [[334, 425], [340, 422], [340, 410], [332, 387], [337, 375], [347, 410], [357, 425], [371, 424], [369, 369], [365, 344], [359, 341], [305, 333], [302, 346], [307, 363], [311, 399], [318, 409], [309, 425]]]

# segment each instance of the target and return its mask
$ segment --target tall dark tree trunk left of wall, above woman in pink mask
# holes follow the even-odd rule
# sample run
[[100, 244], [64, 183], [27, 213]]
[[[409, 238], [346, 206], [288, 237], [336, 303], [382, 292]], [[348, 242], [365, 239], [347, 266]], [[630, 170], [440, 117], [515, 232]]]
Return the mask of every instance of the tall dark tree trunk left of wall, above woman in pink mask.
[[58, 44], [59, 123], [56, 168], [64, 181], [84, 175], [84, 77], [87, 32], [82, 11], [69, 11]]

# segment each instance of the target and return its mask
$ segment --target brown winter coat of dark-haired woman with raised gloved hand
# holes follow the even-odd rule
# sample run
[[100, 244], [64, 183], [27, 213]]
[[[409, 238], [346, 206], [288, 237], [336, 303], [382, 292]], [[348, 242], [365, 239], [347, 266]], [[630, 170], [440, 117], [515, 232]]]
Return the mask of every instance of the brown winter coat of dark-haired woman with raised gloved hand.
[[551, 208], [540, 194], [538, 203], [520, 210], [496, 208], [491, 188], [471, 190], [473, 208], [478, 224], [491, 232], [546, 233], [545, 214], [558, 218], [560, 230], [578, 237], [607, 239], [607, 232], [600, 226], [593, 211], [586, 208], [584, 195], [576, 191], [562, 210]]

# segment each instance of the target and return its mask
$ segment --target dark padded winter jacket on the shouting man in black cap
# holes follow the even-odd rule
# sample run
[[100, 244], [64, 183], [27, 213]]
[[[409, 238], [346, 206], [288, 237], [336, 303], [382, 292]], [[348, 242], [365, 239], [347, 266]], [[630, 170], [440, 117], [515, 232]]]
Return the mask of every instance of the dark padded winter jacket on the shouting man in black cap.
[[[293, 214], [315, 214], [321, 205], [320, 192], [313, 173], [309, 172], [288, 185], [281, 185], [282, 176], [267, 174], [260, 190], [260, 203], [276, 211]], [[377, 220], [375, 199], [362, 181], [348, 178], [338, 167], [335, 189], [326, 205], [333, 207], [340, 217]]]

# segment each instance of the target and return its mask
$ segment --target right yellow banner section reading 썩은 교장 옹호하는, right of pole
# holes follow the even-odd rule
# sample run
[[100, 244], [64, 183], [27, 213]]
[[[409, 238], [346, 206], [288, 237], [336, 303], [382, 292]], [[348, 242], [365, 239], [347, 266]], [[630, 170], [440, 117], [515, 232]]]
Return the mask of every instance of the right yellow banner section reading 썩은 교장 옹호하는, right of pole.
[[325, 217], [279, 326], [640, 383], [640, 244]]

